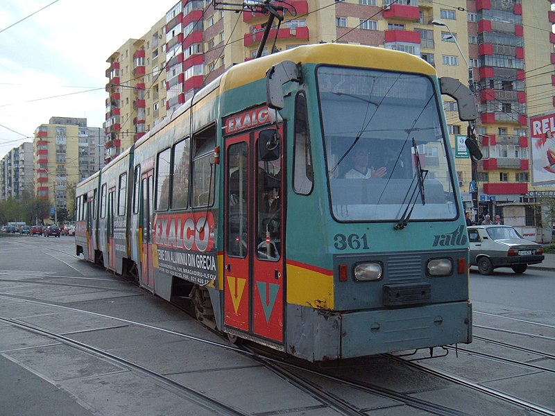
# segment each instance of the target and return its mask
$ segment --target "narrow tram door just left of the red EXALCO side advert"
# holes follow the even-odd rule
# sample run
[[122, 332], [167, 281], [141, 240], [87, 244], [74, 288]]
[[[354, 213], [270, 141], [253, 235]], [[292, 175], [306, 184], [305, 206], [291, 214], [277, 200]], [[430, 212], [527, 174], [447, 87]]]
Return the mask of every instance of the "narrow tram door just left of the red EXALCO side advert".
[[152, 257], [153, 243], [153, 171], [143, 173], [141, 177], [141, 223], [142, 252], [141, 252], [141, 286], [154, 291], [154, 266]]

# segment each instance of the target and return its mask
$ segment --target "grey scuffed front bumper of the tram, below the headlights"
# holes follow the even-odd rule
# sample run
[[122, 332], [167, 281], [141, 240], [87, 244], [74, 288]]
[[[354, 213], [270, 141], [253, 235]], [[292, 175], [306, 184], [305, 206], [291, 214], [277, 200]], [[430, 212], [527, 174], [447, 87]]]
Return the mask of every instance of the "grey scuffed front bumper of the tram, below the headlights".
[[287, 352], [309, 361], [354, 358], [472, 342], [472, 304], [333, 312], [289, 310]]

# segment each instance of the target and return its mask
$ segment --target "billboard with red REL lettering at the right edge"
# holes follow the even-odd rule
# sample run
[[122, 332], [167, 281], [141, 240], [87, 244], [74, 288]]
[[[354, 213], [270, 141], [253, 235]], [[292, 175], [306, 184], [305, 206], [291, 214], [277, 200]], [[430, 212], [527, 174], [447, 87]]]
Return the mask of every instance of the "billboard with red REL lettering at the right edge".
[[555, 184], [555, 113], [530, 117], [532, 185]]

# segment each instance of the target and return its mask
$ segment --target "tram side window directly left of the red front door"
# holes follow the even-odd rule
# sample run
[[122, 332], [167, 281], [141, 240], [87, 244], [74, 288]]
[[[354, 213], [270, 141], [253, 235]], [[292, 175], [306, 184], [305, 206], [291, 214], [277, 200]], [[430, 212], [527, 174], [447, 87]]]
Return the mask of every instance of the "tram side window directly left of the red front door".
[[214, 204], [214, 147], [216, 125], [210, 126], [193, 136], [193, 207]]

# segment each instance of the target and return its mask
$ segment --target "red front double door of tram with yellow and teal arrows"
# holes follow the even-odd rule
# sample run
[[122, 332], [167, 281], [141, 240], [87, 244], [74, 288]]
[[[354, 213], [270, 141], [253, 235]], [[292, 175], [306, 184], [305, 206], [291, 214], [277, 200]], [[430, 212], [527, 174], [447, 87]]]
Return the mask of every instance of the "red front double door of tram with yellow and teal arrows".
[[262, 159], [259, 133], [225, 144], [224, 324], [282, 343], [282, 158]]

